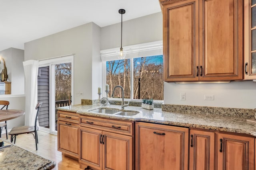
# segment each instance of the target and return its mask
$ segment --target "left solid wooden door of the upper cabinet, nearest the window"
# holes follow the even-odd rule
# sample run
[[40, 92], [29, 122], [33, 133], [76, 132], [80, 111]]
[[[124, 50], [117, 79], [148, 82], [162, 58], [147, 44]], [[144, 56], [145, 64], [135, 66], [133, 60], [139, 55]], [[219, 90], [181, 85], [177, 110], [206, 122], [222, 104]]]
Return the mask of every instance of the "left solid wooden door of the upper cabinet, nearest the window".
[[198, 0], [164, 8], [165, 81], [198, 80]]

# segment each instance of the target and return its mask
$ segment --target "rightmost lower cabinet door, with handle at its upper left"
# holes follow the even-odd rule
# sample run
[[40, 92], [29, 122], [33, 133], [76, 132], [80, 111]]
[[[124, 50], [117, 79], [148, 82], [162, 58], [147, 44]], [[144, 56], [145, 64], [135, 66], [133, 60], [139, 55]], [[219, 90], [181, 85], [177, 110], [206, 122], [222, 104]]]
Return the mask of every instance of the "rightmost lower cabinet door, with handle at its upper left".
[[218, 170], [253, 170], [254, 138], [218, 133]]

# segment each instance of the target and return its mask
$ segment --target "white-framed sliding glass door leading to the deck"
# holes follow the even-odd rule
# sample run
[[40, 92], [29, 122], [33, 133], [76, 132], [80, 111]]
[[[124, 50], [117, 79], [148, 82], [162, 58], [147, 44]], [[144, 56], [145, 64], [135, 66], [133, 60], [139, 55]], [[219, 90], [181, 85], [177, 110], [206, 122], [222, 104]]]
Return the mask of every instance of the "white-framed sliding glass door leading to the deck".
[[56, 107], [72, 100], [73, 56], [39, 61], [38, 102], [43, 102], [38, 118], [40, 130], [57, 134]]

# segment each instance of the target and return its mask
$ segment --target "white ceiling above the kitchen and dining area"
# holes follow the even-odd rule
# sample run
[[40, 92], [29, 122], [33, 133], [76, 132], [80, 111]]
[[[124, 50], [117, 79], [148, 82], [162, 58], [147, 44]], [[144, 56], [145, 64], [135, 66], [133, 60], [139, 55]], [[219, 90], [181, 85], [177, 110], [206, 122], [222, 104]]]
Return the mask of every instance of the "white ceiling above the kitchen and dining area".
[[158, 0], [0, 0], [0, 51], [78, 25], [100, 27], [160, 12]]

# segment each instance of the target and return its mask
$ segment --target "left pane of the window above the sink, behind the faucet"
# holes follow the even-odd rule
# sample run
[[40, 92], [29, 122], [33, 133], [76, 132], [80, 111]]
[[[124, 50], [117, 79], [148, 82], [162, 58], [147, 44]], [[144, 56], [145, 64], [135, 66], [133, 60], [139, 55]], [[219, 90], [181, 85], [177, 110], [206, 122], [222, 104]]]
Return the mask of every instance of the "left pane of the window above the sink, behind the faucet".
[[[108, 97], [111, 97], [114, 87], [120, 85], [124, 88], [124, 98], [130, 99], [130, 59], [106, 62], [106, 84], [109, 85]], [[114, 98], [122, 98], [121, 88], [116, 88]]]

